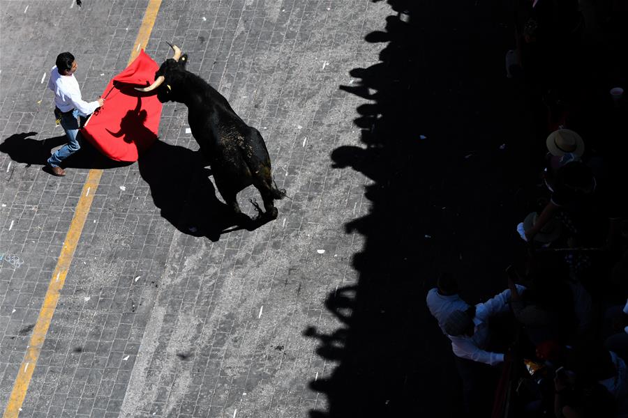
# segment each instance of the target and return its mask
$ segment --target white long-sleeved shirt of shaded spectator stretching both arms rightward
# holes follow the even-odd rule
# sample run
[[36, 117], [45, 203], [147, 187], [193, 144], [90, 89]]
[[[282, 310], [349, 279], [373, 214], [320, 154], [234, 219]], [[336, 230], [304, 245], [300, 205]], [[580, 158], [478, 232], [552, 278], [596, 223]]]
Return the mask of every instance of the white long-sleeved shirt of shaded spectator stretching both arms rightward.
[[[525, 290], [524, 286], [516, 286], [517, 290], [520, 292]], [[506, 289], [486, 302], [475, 305], [475, 317], [473, 318], [475, 327], [473, 335], [449, 335], [454, 354], [463, 359], [470, 359], [474, 362], [486, 363], [491, 366], [503, 362], [504, 355], [502, 353], [493, 353], [484, 350], [484, 348], [488, 343], [488, 319], [491, 318], [491, 316], [507, 311], [509, 309], [509, 302], [510, 289]]]

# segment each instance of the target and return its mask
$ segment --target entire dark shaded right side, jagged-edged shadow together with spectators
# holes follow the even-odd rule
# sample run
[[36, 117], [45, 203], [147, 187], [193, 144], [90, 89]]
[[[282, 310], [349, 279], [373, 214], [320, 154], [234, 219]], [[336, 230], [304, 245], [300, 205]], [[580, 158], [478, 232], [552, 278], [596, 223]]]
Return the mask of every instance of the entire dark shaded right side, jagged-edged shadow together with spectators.
[[311, 417], [628, 416], [628, 3], [388, 3], [340, 86], [373, 205]]

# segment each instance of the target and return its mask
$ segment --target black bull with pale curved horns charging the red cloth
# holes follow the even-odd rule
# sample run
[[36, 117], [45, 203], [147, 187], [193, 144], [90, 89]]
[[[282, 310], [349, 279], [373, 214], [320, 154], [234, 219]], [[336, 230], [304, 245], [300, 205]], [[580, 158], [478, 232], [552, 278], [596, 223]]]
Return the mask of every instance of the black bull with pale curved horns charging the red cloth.
[[276, 219], [278, 211], [273, 202], [282, 199], [285, 190], [278, 189], [272, 178], [262, 135], [246, 125], [215, 88], [186, 70], [187, 55], [181, 56], [177, 47], [173, 49], [174, 59], [161, 64], [155, 73], [156, 82], [137, 90], [156, 91], [160, 102], [179, 102], [188, 107], [192, 135], [209, 160], [218, 192], [234, 213], [241, 212], [237, 194], [253, 185], [262, 195], [265, 216]]

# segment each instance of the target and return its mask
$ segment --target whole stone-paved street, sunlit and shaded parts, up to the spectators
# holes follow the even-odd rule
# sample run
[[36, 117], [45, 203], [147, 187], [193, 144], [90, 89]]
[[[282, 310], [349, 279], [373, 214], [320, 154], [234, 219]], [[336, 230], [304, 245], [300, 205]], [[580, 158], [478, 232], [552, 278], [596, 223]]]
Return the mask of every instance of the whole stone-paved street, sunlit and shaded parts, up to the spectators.
[[[511, 2], [78, 3], [0, 0], [4, 417], [462, 416], [424, 301], [443, 270], [486, 300], [522, 246], [545, 144], [504, 70]], [[180, 103], [137, 162], [85, 143], [43, 171], [57, 55], [91, 101], [168, 42], [264, 137], [274, 221], [225, 220]]]

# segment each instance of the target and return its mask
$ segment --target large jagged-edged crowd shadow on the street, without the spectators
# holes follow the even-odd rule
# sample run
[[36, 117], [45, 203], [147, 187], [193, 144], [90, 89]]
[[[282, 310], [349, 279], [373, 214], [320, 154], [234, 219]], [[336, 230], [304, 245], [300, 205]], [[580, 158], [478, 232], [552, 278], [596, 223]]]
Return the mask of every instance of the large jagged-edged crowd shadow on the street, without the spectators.
[[525, 212], [512, 186], [528, 175], [520, 161], [529, 151], [525, 127], [511, 127], [524, 107], [504, 71], [508, 10], [486, 1], [388, 3], [385, 30], [365, 39], [384, 45], [380, 62], [354, 68], [357, 82], [340, 86], [368, 102], [354, 120], [363, 146], [333, 150], [332, 167], [374, 183], [365, 188], [368, 215], [345, 225], [365, 237], [353, 258], [357, 284], [325, 304], [341, 325], [304, 330], [335, 365], [310, 382], [327, 397], [313, 418], [461, 415], [451, 346], [426, 292], [442, 271], [456, 274], [468, 302], [505, 288], [515, 219]]

